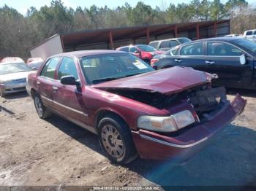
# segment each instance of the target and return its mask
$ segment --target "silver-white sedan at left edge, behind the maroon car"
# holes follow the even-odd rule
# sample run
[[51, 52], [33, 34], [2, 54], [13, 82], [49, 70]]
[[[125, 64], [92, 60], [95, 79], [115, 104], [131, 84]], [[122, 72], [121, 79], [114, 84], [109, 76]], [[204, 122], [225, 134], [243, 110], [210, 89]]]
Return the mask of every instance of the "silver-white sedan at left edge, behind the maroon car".
[[26, 77], [33, 72], [26, 63], [0, 64], [0, 96], [26, 91]]

